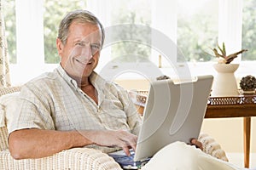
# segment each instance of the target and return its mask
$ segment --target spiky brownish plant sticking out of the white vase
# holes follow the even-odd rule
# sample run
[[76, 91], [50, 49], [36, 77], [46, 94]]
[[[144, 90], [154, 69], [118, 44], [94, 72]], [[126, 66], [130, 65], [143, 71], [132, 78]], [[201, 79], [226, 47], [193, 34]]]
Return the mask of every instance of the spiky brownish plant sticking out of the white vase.
[[[222, 59], [219, 59], [218, 62], [224, 63], [224, 64], [230, 64], [234, 59], [236, 59], [238, 54], [242, 54], [243, 52], [247, 51], [247, 49], [241, 49], [241, 51], [238, 51], [234, 54], [227, 55], [224, 42], [222, 43], [222, 48], [220, 48], [218, 44], [217, 46], [218, 46], [218, 49], [213, 48], [212, 51], [215, 54], [215, 57], [222, 58]], [[218, 50], [220, 51], [220, 53], [218, 53]]]

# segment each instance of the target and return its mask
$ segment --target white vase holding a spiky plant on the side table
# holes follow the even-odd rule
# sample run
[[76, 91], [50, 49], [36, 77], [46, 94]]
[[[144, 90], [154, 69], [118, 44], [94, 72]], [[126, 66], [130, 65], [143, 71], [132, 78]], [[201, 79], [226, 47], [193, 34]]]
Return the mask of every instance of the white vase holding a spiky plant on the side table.
[[247, 49], [241, 49], [233, 54], [227, 54], [225, 44], [223, 42], [222, 48], [212, 48], [214, 57], [218, 58], [218, 63], [213, 67], [217, 71], [212, 84], [212, 96], [236, 96], [239, 94], [237, 88], [236, 77], [234, 72], [237, 70], [239, 64], [231, 64], [236, 59], [238, 54], [246, 52]]

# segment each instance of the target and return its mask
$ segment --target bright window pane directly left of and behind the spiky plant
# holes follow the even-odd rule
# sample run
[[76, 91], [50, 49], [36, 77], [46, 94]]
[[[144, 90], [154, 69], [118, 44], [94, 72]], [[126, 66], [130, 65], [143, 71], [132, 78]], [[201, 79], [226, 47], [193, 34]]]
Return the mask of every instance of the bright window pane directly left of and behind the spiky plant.
[[185, 59], [212, 60], [207, 53], [218, 42], [218, 1], [178, 0], [177, 8], [177, 46], [182, 50]]

